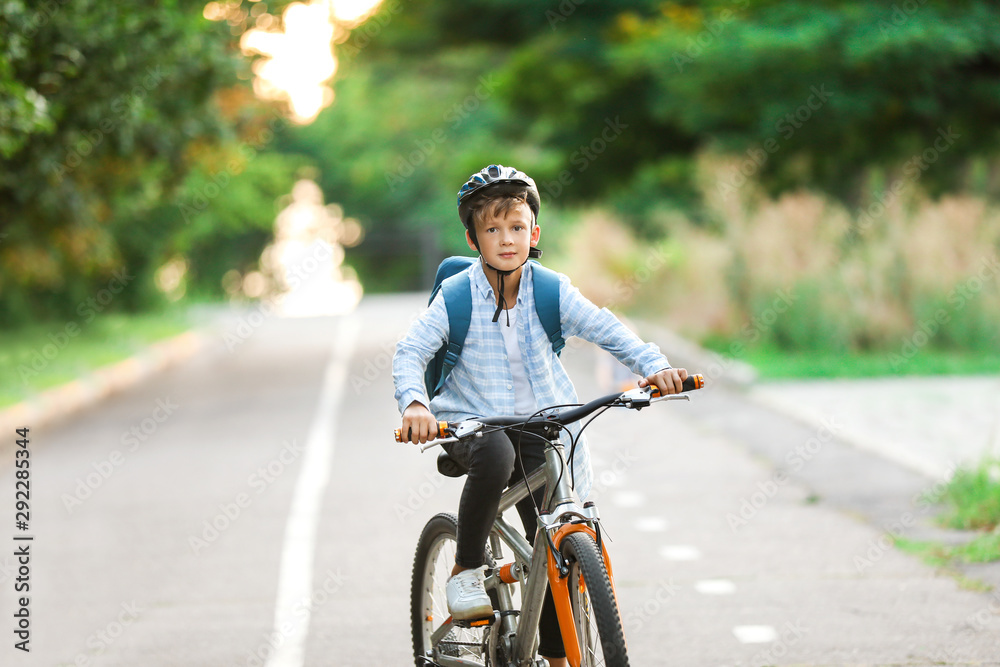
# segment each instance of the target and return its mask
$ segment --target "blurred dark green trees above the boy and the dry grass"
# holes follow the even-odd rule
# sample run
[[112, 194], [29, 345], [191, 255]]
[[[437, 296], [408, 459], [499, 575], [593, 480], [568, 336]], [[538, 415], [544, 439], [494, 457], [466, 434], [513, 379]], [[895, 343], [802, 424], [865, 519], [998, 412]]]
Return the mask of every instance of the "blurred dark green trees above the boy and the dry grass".
[[705, 153], [741, 158], [722, 190], [994, 196], [998, 21], [985, 1], [385, 0], [337, 45], [334, 106], [283, 146], [349, 214], [442, 252], [464, 251], [455, 192], [491, 162], [535, 178], [543, 224], [598, 204], [647, 239], [672, 213], [725, 224], [695, 182]]

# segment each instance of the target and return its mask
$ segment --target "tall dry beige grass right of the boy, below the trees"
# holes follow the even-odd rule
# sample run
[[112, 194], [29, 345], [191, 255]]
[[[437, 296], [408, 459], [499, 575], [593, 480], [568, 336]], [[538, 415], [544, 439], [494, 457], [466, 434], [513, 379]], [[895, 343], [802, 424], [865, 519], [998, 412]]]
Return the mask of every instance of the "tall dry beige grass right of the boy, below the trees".
[[733, 168], [698, 163], [715, 225], [664, 214], [667, 235], [649, 244], [605, 212], [584, 216], [567, 248], [581, 290], [702, 340], [894, 350], [924, 331], [941, 348], [1000, 348], [996, 206], [931, 200], [908, 183], [884, 206], [852, 212], [806, 191], [723, 192]]

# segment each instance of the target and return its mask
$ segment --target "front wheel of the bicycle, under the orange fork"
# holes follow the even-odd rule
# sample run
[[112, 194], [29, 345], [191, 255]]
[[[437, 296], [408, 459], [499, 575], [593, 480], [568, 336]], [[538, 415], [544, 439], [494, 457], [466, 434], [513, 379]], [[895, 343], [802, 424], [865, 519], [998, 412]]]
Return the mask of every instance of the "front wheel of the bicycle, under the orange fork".
[[[563, 538], [559, 550], [570, 568], [570, 604], [580, 641], [581, 667], [628, 667], [618, 603], [593, 538], [572, 533]], [[578, 583], [581, 578], [582, 586]]]

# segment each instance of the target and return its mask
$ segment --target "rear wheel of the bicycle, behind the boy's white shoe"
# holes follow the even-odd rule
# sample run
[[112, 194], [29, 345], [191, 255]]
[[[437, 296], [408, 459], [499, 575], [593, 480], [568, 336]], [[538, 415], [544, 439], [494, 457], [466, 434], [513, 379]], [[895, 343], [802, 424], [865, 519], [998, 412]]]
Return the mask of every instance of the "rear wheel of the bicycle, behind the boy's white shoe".
[[[410, 587], [411, 630], [416, 667], [426, 667], [428, 660], [431, 664], [436, 664], [441, 656], [462, 658], [472, 664], [486, 664], [484, 642], [489, 628], [454, 628], [437, 646], [431, 645], [434, 630], [449, 616], [445, 582], [455, 565], [457, 535], [458, 519], [454, 514], [442, 513], [431, 517], [417, 540]], [[475, 648], [477, 645], [478, 649]]]

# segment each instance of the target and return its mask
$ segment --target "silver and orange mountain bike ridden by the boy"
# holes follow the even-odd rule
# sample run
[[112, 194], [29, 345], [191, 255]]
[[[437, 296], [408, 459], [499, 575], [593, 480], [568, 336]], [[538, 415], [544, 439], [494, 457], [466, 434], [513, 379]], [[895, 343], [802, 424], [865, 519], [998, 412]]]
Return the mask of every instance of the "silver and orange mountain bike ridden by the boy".
[[[684, 381], [683, 391], [704, 386], [701, 375]], [[445, 582], [454, 565], [458, 521], [454, 514], [437, 514], [424, 526], [413, 560], [410, 591], [413, 649], [416, 667], [540, 667], [535, 657], [538, 621], [546, 586], [551, 587], [556, 615], [573, 667], [627, 666], [628, 651], [614, 589], [614, 575], [607, 545], [601, 536], [597, 505], [582, 506], [573, 491], [569, 465], [559, 432], [604, 408], [584, 424], [612, 407], [641, 410], [665, 400], [690, 400], [683, 393], [660, 395], [655, 387], [636, 388], [575, 405], [561, 412], [553, 406], [530, 418], [490, 417], [449, 424], [439, 422], [439, 439], [421, 451], [465, 438], [481, 437], [488, 430], [506, 430], [516, 442], [519, 433], [544, 438], [545, 464], [525, 477], [525, 483], [507, 488], [485, 545], [486, 591], [493, 603], [493, 616], [455, 621], [448, 614]], [[577, 436], [579, 437], [579, 436]], [[396, 440], [402, 435], [396, 429]], [[572, 449], [570, 452], [572, 458]], [[465, 469], [441, 452], [438, 471], [461, 477]], [[545, 487], [543, 509], [538, 511], [538, 533], [532, 547], [503, 518], [505, 510]], [[539, 537], [543, 539], [539, 539]], [[505, 558], [506, 545], [513, 561]], [[514, 585], [517, 584], [515, 587]], [[515, 602], [520, 597], [520, 604]]]

